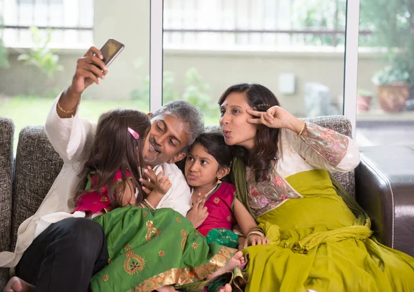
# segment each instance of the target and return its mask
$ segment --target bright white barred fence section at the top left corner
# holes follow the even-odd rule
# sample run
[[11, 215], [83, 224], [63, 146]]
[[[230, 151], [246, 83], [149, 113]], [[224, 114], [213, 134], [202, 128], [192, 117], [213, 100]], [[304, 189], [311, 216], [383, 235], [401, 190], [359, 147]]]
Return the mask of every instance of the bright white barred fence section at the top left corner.
[[52, 48], [88, 48], [93, 41], [93, 0], [3, 0], [3, 43], [12, 48], [34, 45], [30, 27], [50, 33]]

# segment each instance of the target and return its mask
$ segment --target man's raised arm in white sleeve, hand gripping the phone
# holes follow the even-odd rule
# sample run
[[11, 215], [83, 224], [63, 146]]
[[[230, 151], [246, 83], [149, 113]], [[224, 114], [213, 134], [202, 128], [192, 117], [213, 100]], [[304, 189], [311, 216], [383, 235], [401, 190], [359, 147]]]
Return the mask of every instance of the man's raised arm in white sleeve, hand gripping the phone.
[[63, 162], [79, 158], [86, 141], [95, 133], [95, 124], [81, 119], [77, 107], [83, 90], [99, 84], [99, 78], [105, 78], [108, 72], [101, 58], [101, 52], [92, 47], [77, 60], [72, 84], [57, 97], [46, 119], [46, 135]]

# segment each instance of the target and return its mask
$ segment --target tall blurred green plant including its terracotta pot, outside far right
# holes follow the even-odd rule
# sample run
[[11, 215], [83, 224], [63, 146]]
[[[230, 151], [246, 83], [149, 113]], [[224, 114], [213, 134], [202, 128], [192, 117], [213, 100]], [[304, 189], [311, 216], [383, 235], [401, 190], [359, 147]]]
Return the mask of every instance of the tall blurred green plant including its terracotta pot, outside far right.
[[360, 23], [373, 30], [371, 46], [386, 49], [386, 65], [373, 77], [380, 105], [387, 112], [400, 112], [410, 91], [414, 93], [413, 1], [361, 1]]

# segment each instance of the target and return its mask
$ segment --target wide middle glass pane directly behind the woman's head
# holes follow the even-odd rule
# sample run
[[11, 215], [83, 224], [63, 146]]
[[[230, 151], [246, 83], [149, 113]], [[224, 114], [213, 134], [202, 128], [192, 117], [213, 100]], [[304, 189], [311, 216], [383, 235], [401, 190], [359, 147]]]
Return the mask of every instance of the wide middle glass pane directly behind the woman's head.
[[298, 117], [342, 114], [346, 0], [164, 0], [164, 103], [217, 124], [233, 84], [262, 84]]

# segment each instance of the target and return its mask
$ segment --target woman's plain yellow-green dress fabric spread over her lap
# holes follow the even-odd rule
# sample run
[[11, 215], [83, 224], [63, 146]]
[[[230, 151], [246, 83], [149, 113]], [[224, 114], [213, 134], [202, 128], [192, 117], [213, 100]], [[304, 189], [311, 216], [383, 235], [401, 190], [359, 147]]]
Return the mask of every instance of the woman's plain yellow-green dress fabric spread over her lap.
[[327, 171], [286, 180], [304, 197], [257, 218], [271, 243], [244, 250], [246, 291], [414, 291], [413, 257], [371, 237], [369, 221], [355, 217]]

